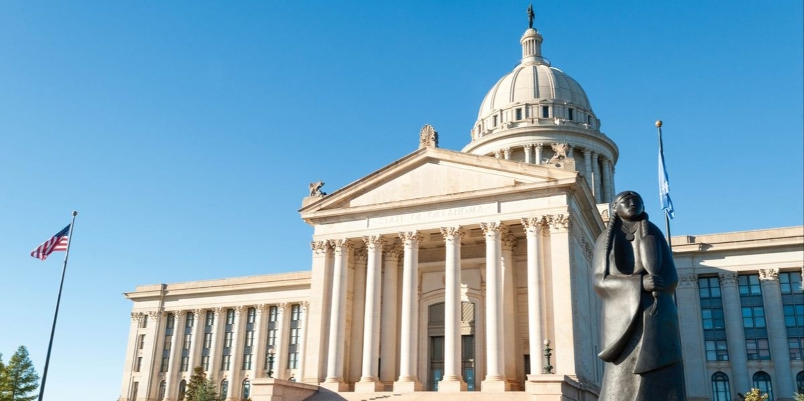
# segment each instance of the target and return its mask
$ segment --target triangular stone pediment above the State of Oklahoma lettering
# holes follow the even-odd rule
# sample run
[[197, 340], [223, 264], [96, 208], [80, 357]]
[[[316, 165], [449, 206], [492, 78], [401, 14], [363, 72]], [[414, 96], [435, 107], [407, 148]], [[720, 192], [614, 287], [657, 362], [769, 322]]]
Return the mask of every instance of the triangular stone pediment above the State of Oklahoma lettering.
[[314, 215], [351, 214], [414, 207], [461, 198], [511, 194], [542, 186], [568, 185], [577, 173], [548, 166], [423, 148], [352, 182], [301, 209]]

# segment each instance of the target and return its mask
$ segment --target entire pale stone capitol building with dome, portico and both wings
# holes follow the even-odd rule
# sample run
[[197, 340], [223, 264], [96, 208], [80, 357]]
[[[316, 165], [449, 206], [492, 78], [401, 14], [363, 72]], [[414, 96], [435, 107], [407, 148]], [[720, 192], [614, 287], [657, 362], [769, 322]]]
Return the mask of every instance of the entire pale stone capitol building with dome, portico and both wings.
[[[125, 293], [119, 400], [177, 401], [194, 366], [231, 401], [597, 399], [592, 252], [619, 151], [542, 41], [524, 31], [463, 149], [425, 125], [407, 156], [311, 184], [310, 268]], [[804, 391], [804, 227], [672, 244], [688, 399]]]

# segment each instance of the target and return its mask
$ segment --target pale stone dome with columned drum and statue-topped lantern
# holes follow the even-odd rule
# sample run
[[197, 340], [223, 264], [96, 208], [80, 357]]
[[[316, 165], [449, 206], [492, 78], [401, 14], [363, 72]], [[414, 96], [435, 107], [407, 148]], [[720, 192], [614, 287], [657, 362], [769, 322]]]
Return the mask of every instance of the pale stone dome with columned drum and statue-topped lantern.
[[[522, 59], [486, 93], [471, 141], [461, 151], [539, 165], [566, 157], [570, 161], [560, 168], [578, 171], [597, 203], [609, 202], [617, 145], [601, 133], [580, 84], [542, 56], [543, 38], [533, 27], [531, 7], [527, 14], [528, 28], [519, 40]], [[555, 149], [567, 154], [557, 156]]]

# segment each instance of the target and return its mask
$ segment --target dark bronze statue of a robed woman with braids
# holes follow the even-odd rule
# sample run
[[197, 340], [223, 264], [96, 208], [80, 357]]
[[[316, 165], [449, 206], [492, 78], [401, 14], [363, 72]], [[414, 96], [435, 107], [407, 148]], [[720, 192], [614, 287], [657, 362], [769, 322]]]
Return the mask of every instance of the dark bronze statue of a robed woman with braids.
[[597, 356], [607, 362], [598, 400], [685, 401], [670, 247], [638, 193], [617, 194], [612, 210], [593, 256], [603, 310]]

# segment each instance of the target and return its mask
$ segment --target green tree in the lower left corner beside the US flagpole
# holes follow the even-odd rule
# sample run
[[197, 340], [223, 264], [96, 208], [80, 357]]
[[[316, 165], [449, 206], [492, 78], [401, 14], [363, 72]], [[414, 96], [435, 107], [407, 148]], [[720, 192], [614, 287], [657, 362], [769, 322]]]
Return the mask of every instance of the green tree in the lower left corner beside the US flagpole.
[[[2, 363], [0, 363], [2, 366]], [[39, 374], [36, 374], [28, 350], [19, 346], [6, 366], [0, 369], [0, 401], [33, 401], [39, 388]]]

